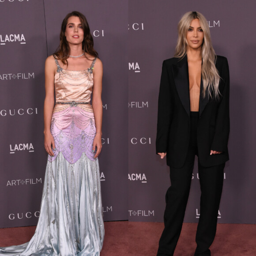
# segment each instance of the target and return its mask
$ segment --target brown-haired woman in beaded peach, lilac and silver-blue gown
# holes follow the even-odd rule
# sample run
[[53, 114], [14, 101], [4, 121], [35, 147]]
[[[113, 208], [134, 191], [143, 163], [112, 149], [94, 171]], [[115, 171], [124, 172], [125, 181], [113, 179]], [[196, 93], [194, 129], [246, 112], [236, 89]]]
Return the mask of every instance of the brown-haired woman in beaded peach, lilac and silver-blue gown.
[[0, 248], [0, 255], [100, 255], [102, 62], [97, 56], [86, 18], [77, 11], [68, 14], [60, 49], [45, 62], [44, 133], [49, 155], [38, 226], [28, 243]]

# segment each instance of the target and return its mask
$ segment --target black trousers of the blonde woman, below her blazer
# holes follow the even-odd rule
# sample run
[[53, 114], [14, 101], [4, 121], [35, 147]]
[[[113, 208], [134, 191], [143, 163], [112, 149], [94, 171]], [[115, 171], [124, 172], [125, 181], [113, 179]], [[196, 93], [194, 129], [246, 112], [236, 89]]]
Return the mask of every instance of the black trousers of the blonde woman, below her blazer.
[[[192, 180], [195, 155], [198, 154], [197, 124], [198, 112], [191, 112], [190, 143], [186, 161], [182, 168], [176, 169], [170, 167], [171, 186], [166, 192], [165, 228], [159, 241], [158, 256], [173, 255], [181, 233]], [[204, 167], [198, 161], [201, 198], [200, 218], [196, 231], [196, 256], [211, 255], [209, 247], [216, 234], [224, 166], [225, 163], [217, 166]]]

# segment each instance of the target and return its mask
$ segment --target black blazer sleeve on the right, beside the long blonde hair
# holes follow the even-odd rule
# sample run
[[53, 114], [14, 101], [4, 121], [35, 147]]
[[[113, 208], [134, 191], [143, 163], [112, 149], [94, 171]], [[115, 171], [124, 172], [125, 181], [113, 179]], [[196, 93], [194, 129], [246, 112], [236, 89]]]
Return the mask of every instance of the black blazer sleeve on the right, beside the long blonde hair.
[[226, 58], [224, 58], [222, 64], [221, 79], [223, 80], [224, 88], [222, 90], [221, 102], [218, 106], [215, 135], [211, 144], [211, 150], [226, 152], [230, 133], [230, 74]]

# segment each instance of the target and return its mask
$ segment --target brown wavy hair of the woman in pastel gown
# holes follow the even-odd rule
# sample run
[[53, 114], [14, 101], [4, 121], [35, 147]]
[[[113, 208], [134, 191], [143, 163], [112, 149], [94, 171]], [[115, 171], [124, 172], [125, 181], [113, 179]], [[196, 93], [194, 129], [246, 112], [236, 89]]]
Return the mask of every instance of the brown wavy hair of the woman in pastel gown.
[[64, 18], [62, 24], [61, 24], [61, 30], [60, 30], [60, 45], [54, 55], [61, 60], [61, 62], [65, 65], [68, 65], [68, 57], [70, 55], [70, 47], [68, 45], [68, 41], [65, 37], [65, 31], [68, 24], [68, 19], [70, 17], [78, 17], [80, 19], [80, 22], [83, 27], [83, 43], [82, 43], [82, 49], [85, 53], [90, 54], [91, 56], [98, 57], [98, 53], [94, 50], [93, 45], [93, 38], [90, 34], [90, 28], [87, 23], [87, 19], [85, 16], [80, 13], [79, 11], [72, 11], [71, 13], [68, 13], [66, 17]]

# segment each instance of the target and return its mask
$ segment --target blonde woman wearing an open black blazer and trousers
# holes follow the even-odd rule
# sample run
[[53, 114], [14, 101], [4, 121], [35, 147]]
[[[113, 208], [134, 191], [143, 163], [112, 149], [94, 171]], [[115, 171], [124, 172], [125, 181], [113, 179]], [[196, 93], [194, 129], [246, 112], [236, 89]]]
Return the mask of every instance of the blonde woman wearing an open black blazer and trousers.
[[195, 155], [200, 177], [200, 219], [195, 256], [211, 255], [229, 160], [229, 67], [216, 56], [205, 17], [191, 11], [178, 25], [176, 54], [165, 60], [158, 98], [156, 152], [166, 156], [171, 186], [158, 256], [171, 256], [181, 233]]

